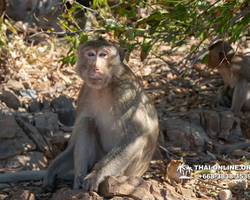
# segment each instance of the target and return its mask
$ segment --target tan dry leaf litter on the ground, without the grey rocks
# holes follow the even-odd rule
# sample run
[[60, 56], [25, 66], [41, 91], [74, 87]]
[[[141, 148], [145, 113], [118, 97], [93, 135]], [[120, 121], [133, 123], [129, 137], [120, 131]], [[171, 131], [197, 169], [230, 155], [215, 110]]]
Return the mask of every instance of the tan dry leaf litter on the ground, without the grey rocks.
[[[37, 99], [46, 98], [48, 100], [64, 94], [76, 101], [82, 81], [76, 76], [74, 66], [58, 64], [60, 56], [66, 55], [67, 52], [68, 47], [65, 45], [65, 40], [63, 38], [44, 38], [46, 40], [35, 45], [25, 40], [14, 40], [9, 44], [13, 51], [1, 52], [0, 91], [8, 89], [10, 84], [26, 82], [32, 92], [17, 95], [22, 103], [28, 103], [32, 100], [30, 94], [35, 94]], [[240, 52], [247, 54], [250, 52], [249, 47], [249, 42], [245, 42], [240, 46]], [[161, 113], [165, 112], [177, 113], [193, 109], [212, 109], [218, 87], [222, 85], [219, 74], [216, 71], [206, 69], [204, 64], [197, 62], [189, 69], [187, 68], [188, 64], [182, 65], [181, 61], [187, 48], [183, 47], [183, 49], [170, 55], [164, 55], [161, 59], [149, 55], [143, 62], [140, 61], [140, 51], [134, 50], [129, 61], [125, 61], [141, 78], [157, 107], [159, 121], [162, 120]], [[164, 54], [167, 49], [169, 49], [167, 45], [161, 45], [159, 51]], [[168, 65], [179, 72], [187, 70], [186, 76], [175, 74]], [[182, 157], [185, 154], [192, 155], [193, 153], [181, 152], [179, 155]], [[144, 175], [145, 179], [152, 178], [159, 183], [172, 185], [176, 192], [183, 196], [185, 195], [180, 188], [186, 188], [196, 195], [195, 198], [191, 199], [219, 199], [218, 194], [220, 194], [224, 185], [228, 186], [228, 183], [232, 182], [229, 189], [232, 192], [233, 199], [250, 199], [248, 180], [238, 183], [234, 182], [235, 180], [207, 181], [195, 178], [185, 184], [171, 183], [166, 172], [171, 170], [168, 165], [170, 160], [165, 156], [164, 151], [161, 154], [162, 159], [152, 161], [150, 169]], [[243, 164], [242, 155], [230, 155], [207, 164]], [[196, 156], [194, 154], [193, 164], [195, 164]], [[245, 155], [246, 158], [248, 156], [248, 154]], [[4, 173], [4, 171], [1, 171], [1, 173]], [[180, 185], [181, 187], [179, 187]], [[0, 199], [18, 199], [15, 195], [22, 190], [30, 191], [37, 200], [51, 199], [51, 193], [41, 193], [41, 186], [42, 181], [11, 183], [10, 185], [0, 184]], [[60, 184], [60, 188], [71, 187], [71, 182]]]

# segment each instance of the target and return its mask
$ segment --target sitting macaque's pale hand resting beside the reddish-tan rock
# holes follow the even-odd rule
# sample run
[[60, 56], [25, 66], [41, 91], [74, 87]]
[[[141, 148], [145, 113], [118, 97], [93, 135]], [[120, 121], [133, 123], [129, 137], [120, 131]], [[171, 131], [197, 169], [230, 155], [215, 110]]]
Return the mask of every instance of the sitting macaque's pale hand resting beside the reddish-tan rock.
[[80, 182], [82, 182], [81, 186], [85, 191], [98, 191], [98, 186], [103, 180], [104, 177], [102, 175], [97, 174], [96, 171], [92, 171]]

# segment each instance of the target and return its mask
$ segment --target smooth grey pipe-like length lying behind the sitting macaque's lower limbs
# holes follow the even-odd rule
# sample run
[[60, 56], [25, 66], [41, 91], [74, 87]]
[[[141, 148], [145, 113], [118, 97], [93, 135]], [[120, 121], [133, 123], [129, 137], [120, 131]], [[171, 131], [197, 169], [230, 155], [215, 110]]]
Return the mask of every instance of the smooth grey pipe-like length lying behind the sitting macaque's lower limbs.
[[[39, 181], [44, 178], [45, 170], [40, 171], [18, 171], [14, 173], [0, 174], [0, 183], [13, 183], [21, 181]], [[63, 180], [73, 180], [74, 174], [69, 173], [60, 177]]]

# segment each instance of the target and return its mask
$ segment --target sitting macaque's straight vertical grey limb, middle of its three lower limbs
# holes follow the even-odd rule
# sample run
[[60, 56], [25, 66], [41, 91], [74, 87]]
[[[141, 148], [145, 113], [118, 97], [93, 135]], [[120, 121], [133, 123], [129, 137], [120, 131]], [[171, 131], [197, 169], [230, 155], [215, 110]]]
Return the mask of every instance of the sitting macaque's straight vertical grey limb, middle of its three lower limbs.
[[[80, 122], [79, 122], [80, 121]], [[96, 130], [94, 123], [88, 118], [79, 120], [75, 127], [77, 131], [74, 150], [74, 189], [79, 189], [88, 174], [88, 168], [96, 161]]]

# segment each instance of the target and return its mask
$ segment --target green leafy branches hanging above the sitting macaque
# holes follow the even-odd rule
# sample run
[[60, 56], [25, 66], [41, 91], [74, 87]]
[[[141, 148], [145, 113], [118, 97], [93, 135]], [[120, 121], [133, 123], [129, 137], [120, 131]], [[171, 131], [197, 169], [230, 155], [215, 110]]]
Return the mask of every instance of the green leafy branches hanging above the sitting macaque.
[[[206, 49], [217, 39], [235, 42], [249, 34], [250, 0], [120, 0], [119, 5], [109, 7], [110, 2], [114, 1], [94, 0], [90, 9], [76, 1], [70, 8], [65, 4], [59, 24], [70, 47], [67, 56], [60, 59], [62, 64], [73, 65], [78, 44], [97, 32], [112, 35], [128, 52], [140, 48], [141, 60], [146, 59], [149, 52], [161, 57], [157, 48], [162, 43], [171, 46], [165, 52], [168, 54], [195, 38], [199, 43], [187, 50], [184, 65], [201, 47]], [[76, 14], [79, 12], [96, 16], [91, 19], [92, 27], [79, 23]], [[0, 35], [2, 45], [3, 34]]]

